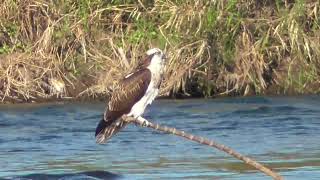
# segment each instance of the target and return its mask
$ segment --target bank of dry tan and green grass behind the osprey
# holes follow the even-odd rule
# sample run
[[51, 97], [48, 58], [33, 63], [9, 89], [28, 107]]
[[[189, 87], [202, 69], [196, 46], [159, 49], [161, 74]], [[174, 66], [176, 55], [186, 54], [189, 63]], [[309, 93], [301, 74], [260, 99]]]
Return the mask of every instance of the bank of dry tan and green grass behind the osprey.
[[150, 47], [162, 95], [320, 91], [318, 0], [0, 2], [0, 98], [101, 97]]

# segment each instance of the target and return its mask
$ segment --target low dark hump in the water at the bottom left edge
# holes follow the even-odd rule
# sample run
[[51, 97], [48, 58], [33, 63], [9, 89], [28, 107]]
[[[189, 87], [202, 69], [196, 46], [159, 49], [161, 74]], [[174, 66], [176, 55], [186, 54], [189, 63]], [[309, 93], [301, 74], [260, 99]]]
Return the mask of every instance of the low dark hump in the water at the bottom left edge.
[[107, 171], [88, 171], [67, 174], [29, 174], [25, 176], [6, 178], [3, 180], [112, 180], [120, 179], [121, 177], [121, 175]]

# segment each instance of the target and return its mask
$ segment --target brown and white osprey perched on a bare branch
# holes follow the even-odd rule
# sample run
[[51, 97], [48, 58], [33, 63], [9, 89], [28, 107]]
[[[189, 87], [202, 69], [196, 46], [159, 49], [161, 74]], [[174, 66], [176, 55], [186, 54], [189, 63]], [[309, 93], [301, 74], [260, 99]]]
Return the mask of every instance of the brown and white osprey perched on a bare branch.
[[142, 114], [158, 95], [165, 59], [160, 49], [150, 49], [136, 70], [119, 82], [96, 128], [97, 143], [105, 142], [129, 123], [123, 116], [134, 117], [145, 125], [149, 123]]

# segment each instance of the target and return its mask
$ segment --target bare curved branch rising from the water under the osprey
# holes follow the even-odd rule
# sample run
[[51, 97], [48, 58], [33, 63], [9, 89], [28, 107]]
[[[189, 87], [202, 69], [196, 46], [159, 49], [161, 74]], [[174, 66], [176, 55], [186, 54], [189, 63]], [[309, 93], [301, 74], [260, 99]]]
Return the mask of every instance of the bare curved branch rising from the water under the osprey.
[[[141, 126], [143, 126], [141, 124], [140, 121], [132, 118], [132, 117], [126, 117], [127, 121], [131, 121], [131, 122], [134, 122], [136, 124], [139, 124]], [[180, 130], [177, 130], [175, 128], [171, 128], [171, 127], [167, 127], [167, 126], [160, 126], [159, 124], [153, 124], [151, 122], [147, 123], [146, 125], [144, 125], [144, 127], [148, 127], [148, 128], [152, 128], [152, 129], [155, 129], [155, 130], [158, 130], [158, 131], [162, 131], [162, 132], [165, 132], [165, 133], [168, 133], [168, 134], [174, 134], [174, 135], [177, 135], [177, 136], [181, 136], [181, 137], [184, 137], [190, 141], [194, 141], [194, 142], [198, 142], [200, 144], [204, 144], [204, 145], [208, 145], [210, 147], [214, 147], [220, 151], [224, 151], [225, 153], [227, 154], [230, 154], [231, 156], [243, 161], [244, 163], [256, 168], [257, 170], [265, 173], [266, 175], [269, 175], [271, 176], [273, 179], [276, 179], [276, 180], [282, 180], [283, 178], [276, 172], [272, 171], [271, 169], [265, 167], [264, 165], [258, 163], [257, 161], [251, 159], [251, 158], [248, 158], [236, 151], [234, 151], [233, 149], [223, 145], [223, 144], [220, 144], [220, 143], [217, 143], [213, 140], [210, 140], [210, 139], [207, 139], [207, 138], [204, 138], [204, 137], [201, 137], [201, 136], [195, 136], [195, 135], [192, 135], [192, 134], [189, 134], [189, 133], [186, 133], [184, 131], [180, 131]]]

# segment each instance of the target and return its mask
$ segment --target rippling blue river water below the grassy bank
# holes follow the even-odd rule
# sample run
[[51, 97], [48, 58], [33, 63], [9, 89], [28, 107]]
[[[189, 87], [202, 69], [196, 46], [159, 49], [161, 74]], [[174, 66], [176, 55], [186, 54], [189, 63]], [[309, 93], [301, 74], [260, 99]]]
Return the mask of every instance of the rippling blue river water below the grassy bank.
[[[3, 179], [270, 179], [216, 149], [128, 126], [104, 145], [103, 103], [0, 106]], [[223, 143], [285, 179], [320, 179], [320, 97], [157, 100], [153, 122]]]

